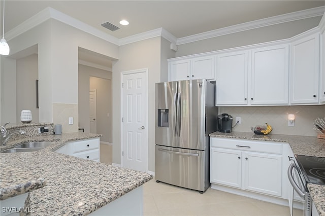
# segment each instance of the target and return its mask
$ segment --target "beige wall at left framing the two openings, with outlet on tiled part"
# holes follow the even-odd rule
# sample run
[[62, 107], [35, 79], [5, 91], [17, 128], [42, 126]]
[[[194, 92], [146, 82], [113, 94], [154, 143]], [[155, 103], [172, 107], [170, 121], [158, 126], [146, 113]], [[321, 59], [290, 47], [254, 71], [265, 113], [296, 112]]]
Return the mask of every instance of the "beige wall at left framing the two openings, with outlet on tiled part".
[[[77, 132], [78, 47], [117, 59], [118, 46], [53, 19], [18, 35], [8, 43], [11, 49], [8, 59], [38, 44], [39, 121], [62, 124], [63, 132]], [[15, 85], [12, 79], [7, 79], [10, 71], [16, 71], [14, 65], [9, 61], [2, 62], [2, 67], [5, 68], [2, 71], [2, 82], [8, 85]], [[3, 97], [5, 92], [2, 91], [1, 94]], [[16, 118], [16, 104], [12, 105], [8, 99], [4, 101], [6, 104], [10, 104], [11, 108], [2, 106], [2, 116], [14, 113]], [[68, 124], [68, 117], [74, 117], [74, 125]]]

